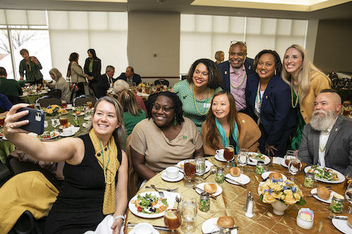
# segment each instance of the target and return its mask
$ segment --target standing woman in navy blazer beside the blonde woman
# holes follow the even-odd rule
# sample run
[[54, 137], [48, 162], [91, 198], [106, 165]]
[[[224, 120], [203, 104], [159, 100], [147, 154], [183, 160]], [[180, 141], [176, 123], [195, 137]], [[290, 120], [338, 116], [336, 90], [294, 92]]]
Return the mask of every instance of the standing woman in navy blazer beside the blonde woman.
[[290, 103], [291, 90], [278, 75], [282, 72], [282, 63], [275, 51], [260, 51], [253, 67], [256, 73], [248, 78], [246, 100], [249, 115], [262, 131], [259, 149], [266, 155], [282, 155], [296, 126], [296, 115]]

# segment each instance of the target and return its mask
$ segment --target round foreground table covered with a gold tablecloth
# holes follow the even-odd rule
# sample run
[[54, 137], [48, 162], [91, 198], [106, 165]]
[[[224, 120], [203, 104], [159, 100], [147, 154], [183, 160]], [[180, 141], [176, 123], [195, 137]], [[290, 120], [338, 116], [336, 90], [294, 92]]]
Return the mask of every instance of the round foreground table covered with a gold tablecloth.
[[[226, 162], [220, 162], [215, 159], [214, 156], [205, 158], [208, 162], [213, 164], [213, 166], [211, 166], [212, 168], [216, 169], [217, 167], [225, 167]], [[270, 158], [276, 163], [267, 164], [266, 167], [268, 171], [277, 171], [287, 177], [291, 176], [287, 167], [282, 166], [282, 160], [284, 160], [283, 158], [277, 157], [275, 160], [273, 160], [273, 157]], [[281, 163], [277, 163], [280, 161]], [[304, 171], [299, 172], [295, 177], [298, 180], [296, 185], [298, 185], [298, 187], [303, 191], [303, 198], [306, 200], [306, 204], [291, 204], [289, 205], [289, 208], [284, 212], [284, 214], [279, 216], [273, 213], [271, 204], [260, 201], [258, 185], [261, 181], [263, 181], [263, 178], [261, 175], [256, 174], [256, 166], [247, 164], [244, 166], [244, 170], [246, 171], [244, 174], [250, 178], [249, 183], [246, 183], [246, 188], [239, 185], [234, 185], [227, 181], [224, 183], [216, 183], [215, 174], [210, 175], [206, 181], [203, 181], [206, 183], [217, 184], [222, 188], [222, 193], [216, 197], [216, 200], [210, 198], [210, 210], [208, 212], [202, 212], [200, 209], [198, 209], [196, 219], [191, 221], [191, 224], [196, 227], [194, 234], [203, 233], [202, 225], [208, 219], [220, 218], [221, 216], [231, 216], [234, 219], [234, 225], [239, 227], [237, 229], [237, 233], [341, 233], [339, 230], [337, 230], [337, 228], [334, 227], [332, 220], [327, 219], [325, 216], [347, 215], [347, 207], [350, 204], [345, 201], [344, 212], [341, 214], [334, 214], [329, 209], [329, 203], [321, 202], [315, 197], [308, 197], [307, 195], [310, 194], [312, 188], [306, 188], [303, 186], [305, 175]], [[225, 169], [225, 174], [228, 174], [229, 171], [229, 169]], [[197, 193], [193, 188], [187, 188], [184, 186], [184, 183], [187, 181], [186, 178], [182, 178], [182, 180], [176, 182], [169, 182], [163, 179], [163, 173], [164, 171], [161, 171], [160, 173], [156, 174], [156, 176], [153, 176], [153, 178], [150, 178], [149, 181], [147, 181], [146, 184], [138, 190], [137, 195], [139, 193], [150, 193], [154, 191], [152, 189], [146, 188], [146, 186], [154, 185], [156, 188], [177, 188], [174, 193], [179, 193], [181, 197], [196, 197], [197, 202], [199, 202], [199, 193]], [[208, 174], [210, 174], [210, 172], [204, 174], [203, 177], [207, 176]], [[330, 186], [331, 190], [339, 193], [340, 195], [344, 195], [345, 193], [344, 182], [323, 183], [320, 181], [315, 181], [313, 188], [318, 188], [318, 186]], [[253, 218], [247, 217], [243, 209], [246, 202], [246, 196], [249, 191], [251, 191], [251, 195], [253, 196]], [[177, 204], [177, 202], [175, 202], [175, 204]], [[301, 208], [309, 208], [313, 211], [314, 224], [313, 228], [310, 230], [300, 228], [296, 223], [297, 214]], [[132, 229], [127, 228], [128, 223], [151, 223], [153, 226], [165, 226], [163, 216], [154, 219], [142, 218], [139, 215], [133, 214], [130, 209], [127, 210], [124, 231], [125, 234], [130, 232], [133, 234], [133, 231], [131, 231]], [[182, 219], [181, 225], [184, 225], [185, 223], [186, 222]], [[170, 233], [169, 231], [163, 230], [158, 230], [158, 232], [161, 234]], [[177, 228], [177, 232], [182, 234], [184, 233], [181, 226]], [[207, 230], [207, 233], [208, 232], [210, 233], [211, 230]]]

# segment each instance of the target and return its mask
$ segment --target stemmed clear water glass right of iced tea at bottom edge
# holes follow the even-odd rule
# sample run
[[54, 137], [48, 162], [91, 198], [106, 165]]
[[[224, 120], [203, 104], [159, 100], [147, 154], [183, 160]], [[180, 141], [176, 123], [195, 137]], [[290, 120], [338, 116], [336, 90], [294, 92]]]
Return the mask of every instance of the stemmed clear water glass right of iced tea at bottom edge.
[[182, 219], [187, 222], [187, 225], [181, 227], [184, 233], [193, 233], [196, 227], [191, 225], [190, 222], [194, 221], [197, 216], [196, 198], [184, 197], [181, 205]]

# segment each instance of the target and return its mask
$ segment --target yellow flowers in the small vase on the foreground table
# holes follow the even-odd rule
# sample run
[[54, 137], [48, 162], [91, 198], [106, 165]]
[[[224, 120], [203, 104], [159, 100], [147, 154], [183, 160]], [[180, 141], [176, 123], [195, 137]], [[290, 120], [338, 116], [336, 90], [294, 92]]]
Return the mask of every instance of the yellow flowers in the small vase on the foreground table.
[[259, 190], [262, 193], [260, 200], [265, 203], [270, 204], [279, 200], [285, 204], [306, 204], [302, 190], [290, 180], [284, 181], [282, 178], [268, 180], [260, 186]]

